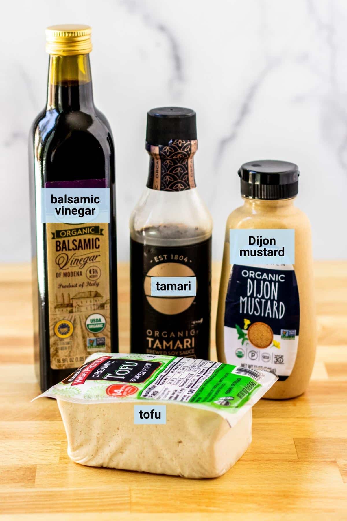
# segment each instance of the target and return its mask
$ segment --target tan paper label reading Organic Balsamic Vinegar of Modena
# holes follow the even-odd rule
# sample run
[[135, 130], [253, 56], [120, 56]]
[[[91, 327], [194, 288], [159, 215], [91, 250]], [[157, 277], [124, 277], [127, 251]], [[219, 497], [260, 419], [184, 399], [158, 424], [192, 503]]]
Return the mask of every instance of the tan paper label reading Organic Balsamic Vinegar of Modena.
[[46, 224], [50, 367], [110, 351], [108, 224]]

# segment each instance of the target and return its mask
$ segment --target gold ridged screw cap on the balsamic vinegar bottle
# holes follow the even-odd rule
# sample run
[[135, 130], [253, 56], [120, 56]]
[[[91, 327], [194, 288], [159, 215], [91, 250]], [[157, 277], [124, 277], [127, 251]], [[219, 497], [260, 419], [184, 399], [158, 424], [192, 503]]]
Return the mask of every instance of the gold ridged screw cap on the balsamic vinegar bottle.
[[88, 54], [92, 51], [92, 28], [74, 23], [46, 29], [46, 52], [58, 56]]

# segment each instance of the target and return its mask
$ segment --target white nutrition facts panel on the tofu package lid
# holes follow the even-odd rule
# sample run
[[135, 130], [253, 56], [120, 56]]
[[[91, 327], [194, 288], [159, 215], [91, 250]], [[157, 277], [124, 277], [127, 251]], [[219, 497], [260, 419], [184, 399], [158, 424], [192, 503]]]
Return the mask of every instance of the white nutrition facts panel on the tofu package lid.
[[176, 358], [142, 392], [143, 398], [188, 402], [214, 371], [222, 364], [197, 358]]

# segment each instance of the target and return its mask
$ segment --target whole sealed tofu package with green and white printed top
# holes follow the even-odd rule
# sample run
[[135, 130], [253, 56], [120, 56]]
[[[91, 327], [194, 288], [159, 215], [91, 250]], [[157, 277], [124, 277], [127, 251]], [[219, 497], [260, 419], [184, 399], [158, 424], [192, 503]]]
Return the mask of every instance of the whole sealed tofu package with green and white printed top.
[[[276, 380], [197, 358], [95, 353], [41, 396], [56, 398], [76, 463], [214, 478], [247, 450], [252, 406]], [[134, 405], [165, 405], [166, 423], [135, 424]]]

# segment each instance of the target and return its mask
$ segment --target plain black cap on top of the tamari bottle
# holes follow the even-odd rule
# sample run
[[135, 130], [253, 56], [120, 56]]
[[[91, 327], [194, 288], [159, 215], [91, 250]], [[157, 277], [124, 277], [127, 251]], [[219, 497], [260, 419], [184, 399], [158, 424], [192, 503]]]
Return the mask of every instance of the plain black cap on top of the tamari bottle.
[[197, 139], [195, 111], [184, 107], [158, 107], [149, 110], [147, 143], [167, 145], [174, 139]]

